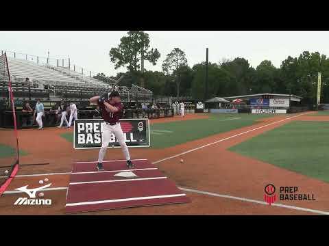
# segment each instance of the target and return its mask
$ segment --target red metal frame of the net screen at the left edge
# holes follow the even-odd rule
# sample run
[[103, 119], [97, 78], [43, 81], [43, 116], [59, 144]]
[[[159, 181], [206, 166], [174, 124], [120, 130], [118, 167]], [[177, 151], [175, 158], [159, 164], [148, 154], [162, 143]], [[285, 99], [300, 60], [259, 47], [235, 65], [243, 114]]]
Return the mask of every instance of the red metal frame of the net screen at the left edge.
[[9, 97], [9, 103], [10, 109], [12, 110], [12, 117], [14, 122], [14, 147], [15, 153], [14, 157], [12, 159], [12, 163], [3, 163], [0, 164], [0, 196], [5, 192], [5, 190], [8, 188], [10, 182], [12, 182], [12, 179], [14, 176], [16, 176], [17, 172], [19, 172], [19, 135], [17, 132], [17, 124], [16, 124], [16, 111], [15, 111], [15, 105], [14, 105], [14, 94], [12, 92], [12, 80], [10, 76], [9, 66], [8, 66], [8, 59], [7, 54], [4, 53], [3, 55], [0, 55], [0, 80], [1, 82], [8, 83], [8, 97]]

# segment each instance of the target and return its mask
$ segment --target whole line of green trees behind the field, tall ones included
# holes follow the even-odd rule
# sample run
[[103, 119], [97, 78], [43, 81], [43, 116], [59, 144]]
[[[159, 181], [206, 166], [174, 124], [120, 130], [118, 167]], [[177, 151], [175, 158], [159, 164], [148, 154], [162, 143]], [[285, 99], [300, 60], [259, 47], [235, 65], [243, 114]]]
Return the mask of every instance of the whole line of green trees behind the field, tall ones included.
[[[190, 67], [184, 51], [173, 48], [162, 63], [162, 71], [145, 70], [144, 61], [156, 65], [160, 52], [150, 48], [149, 35], [144, 31], [128, 31], [119, 46], [110, 49], [109, 55], [114, 68], [127, 68], [127, 72], [112, 77], [119, 79], [125, 74], [121, 85], [134, 83], [158, 96], [204, 99], [206, 62]], [[298, 57], [289, 56], [280, 68], [269, 60], [253, 68], [243, 57], [222, 59], [218, 63], [208, 63], [208, 98], [278, 93], [302, 96], [314, 104], [318, 72], [322, 73], [321, 102], [329, 102], [329, 58], [319, 52], [304, 51]], [[95, 78], [112, 83], [103, 73]]]

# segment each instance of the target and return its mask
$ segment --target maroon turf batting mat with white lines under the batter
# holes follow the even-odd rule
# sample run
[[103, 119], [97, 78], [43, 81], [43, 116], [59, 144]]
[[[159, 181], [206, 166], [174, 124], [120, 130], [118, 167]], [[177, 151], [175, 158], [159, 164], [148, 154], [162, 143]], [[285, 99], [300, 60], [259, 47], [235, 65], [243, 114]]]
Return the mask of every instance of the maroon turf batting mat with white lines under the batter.
[[[73, 163], [66, 213], [191, 202], [155, 165], [146, 159], [132, 162], [135, 167], [127, 169], [124, 160], [106, 161], [102, 172], [95, 170], [96, 162]], [[114, 176], [122, 172], [136, 177]]]

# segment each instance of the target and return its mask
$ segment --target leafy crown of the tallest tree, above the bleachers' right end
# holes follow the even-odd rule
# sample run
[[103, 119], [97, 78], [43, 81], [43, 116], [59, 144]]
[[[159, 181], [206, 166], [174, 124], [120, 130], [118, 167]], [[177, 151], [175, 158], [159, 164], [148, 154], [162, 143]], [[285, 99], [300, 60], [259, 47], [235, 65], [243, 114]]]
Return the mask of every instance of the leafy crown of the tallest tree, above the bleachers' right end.
[[129, 71], [136, 71], [141, 68], [139, 63], [142, 59], [156, 65], [160, 53], [158, 49], [150, 49], [149, 34], [144, 31], [128, 31], [127, 34], [121, 38], [117, 48], [110, 50], [114, 68], [126, 66]]

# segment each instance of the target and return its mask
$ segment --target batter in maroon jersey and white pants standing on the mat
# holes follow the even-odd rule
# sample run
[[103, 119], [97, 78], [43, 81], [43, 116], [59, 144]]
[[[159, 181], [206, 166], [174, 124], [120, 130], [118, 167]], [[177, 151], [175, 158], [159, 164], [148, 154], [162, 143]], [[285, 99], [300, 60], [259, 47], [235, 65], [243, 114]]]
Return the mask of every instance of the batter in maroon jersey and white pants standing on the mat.
[[103, 94], [102, 96], [94, 96], [89, 99], [90, 102], [97, 103], [99, 108], [102, 109], [102, 118], [105, 122], [103, 126], [103, 133], [101, 134], [101, 150], [99, 150], [97, 171], [103, 170], [103, 159], [110, 143], [111, 134], [114, 133], [118, 139], [122, 152], [127, 161], [127, 167], [132, 168], [134, 164], [130, 160], [129, 150], [125, 143], [125, 137], [121, 129], [119, 118], [122, 115], [123, 104], [118, 91]]

